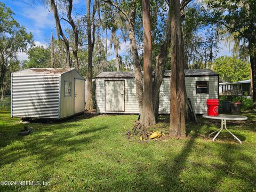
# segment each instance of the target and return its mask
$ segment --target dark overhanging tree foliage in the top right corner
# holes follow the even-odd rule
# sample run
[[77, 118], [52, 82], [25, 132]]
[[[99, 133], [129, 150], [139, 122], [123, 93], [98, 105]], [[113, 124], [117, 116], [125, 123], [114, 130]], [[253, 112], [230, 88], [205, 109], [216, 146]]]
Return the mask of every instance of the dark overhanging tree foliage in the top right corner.
[[[212, 22], [218, 23], [223, 33], [236, 39], [243, 57], [256, 53], [256, 3], [254, 0], [208, 0], [212, 10]], [[248, 46], [249, 43], [249, 46]], [[247, 45], [246, 45], [247, 44]], [[245, 48], [247, 55], [245, 55]], [[249, 49], [248, 49], [249, 48]], [[237, 49], [237, 47], [235, 47]]]

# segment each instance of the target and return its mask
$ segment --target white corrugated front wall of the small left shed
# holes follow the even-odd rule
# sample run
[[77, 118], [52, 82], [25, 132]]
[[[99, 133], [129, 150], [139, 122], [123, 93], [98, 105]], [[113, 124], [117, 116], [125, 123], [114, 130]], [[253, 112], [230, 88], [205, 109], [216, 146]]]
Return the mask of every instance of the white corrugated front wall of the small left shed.
[[59, 117], [59, 76], [12, 75], [12, 116]]

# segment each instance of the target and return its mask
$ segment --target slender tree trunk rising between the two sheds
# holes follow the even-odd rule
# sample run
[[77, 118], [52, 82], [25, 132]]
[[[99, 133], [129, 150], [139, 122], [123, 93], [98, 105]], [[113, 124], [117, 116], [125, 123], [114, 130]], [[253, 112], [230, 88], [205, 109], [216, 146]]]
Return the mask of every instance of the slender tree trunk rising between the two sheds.
[[[95, 42], [95, 24], [94, 14], [95, 8], [93, 6], [92, 22], [91, 22], [91, 0], [86, 2], [86, 14], [87, 14], [87, 37], [88, 37], [88, 69], [87, 69], [87, 98], [85, 103], [86, 110], [93, 110], [93, 88], [92, 88], [92, 54]], [[92, 25], [92, 31], [91, 31]]]

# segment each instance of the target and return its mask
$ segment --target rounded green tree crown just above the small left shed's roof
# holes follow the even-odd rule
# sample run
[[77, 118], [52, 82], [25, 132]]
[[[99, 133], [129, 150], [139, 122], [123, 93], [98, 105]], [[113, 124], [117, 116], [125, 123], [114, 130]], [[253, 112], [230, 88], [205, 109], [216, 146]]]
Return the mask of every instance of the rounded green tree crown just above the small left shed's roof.
[[23, 62], [22, 68], [44, 68], [51, 66], [50, 47], [33, 46], [28, 50], [28, 60]]

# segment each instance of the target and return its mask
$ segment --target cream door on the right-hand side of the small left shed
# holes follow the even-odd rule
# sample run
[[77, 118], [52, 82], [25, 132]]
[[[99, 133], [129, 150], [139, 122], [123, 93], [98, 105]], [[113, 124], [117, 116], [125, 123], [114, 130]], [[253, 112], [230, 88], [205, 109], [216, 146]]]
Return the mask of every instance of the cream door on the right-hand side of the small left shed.
[[75, 78], [75, 114], [84, 111], [84, 80]]

